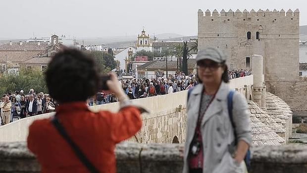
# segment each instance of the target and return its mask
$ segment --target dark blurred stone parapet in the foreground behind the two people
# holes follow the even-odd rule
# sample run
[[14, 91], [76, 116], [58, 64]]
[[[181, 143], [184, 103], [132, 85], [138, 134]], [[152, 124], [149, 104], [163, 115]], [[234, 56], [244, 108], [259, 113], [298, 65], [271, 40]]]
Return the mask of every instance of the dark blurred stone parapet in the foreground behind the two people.
[[[181, 173], [182, 144], [120, 143], [117, 173]], [[1, 173], [39, 173], [40, 165], [24, 142], [0, 143]], [[252, 149], [250, 173], [305, 173], [307, 146], [263, 146]]]

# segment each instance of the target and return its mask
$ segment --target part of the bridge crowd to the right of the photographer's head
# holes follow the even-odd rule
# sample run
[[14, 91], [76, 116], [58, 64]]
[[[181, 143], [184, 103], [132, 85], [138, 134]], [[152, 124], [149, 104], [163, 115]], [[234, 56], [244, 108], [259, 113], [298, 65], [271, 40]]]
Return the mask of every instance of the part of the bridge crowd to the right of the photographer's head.
[[[229, 79], [251, 75], [251, 70], [228, 70]], [[169, 74], [157, 70], [155, 78], [133, 78], [131, 80], [120, 80], [120, 84], [130, 99], [140, 99], [175, 93], [188, 90], [198, 84], [197, 76], [190, 74], [186, 76], [183, 72]], [[117, 102], [116, 97], [106, 91], [96, 93], [88, 100], [89, 106]]]

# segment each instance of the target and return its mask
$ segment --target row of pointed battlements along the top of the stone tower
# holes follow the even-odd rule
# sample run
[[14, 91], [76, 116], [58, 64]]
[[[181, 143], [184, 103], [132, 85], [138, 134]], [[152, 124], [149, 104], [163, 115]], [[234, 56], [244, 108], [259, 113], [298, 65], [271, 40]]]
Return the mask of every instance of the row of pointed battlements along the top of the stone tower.
[[247, 9], [244, 9], [243, 11], [240, 11], [237, 9], [236, 11], [233, 11], [232, 9], [229, 9], [227, 12], [222, 9], [220, 12], [218, 12], [216, 9], [214, 9], [212, 12], [207, 9], [205, 13], [203, 10], [198, 10], [198, 16], [199, 17], [242, 17], [242, 18], [252, 18], [252, 17], [294, 17], [299, 19], [300, 16], [300, 10], [297, 8], [295, 11], [292, 11], [289, 9], [287, 12], [285, 12], [284, 9], [281, 9], [280, 11], [277, 11], [276, 9], [270, 11], [269, 9], [266, 9], [265, 11], [262, 9], [258, 9], [258, 11], [255, 11], [252, 9], [251, 11], [248, 11]]

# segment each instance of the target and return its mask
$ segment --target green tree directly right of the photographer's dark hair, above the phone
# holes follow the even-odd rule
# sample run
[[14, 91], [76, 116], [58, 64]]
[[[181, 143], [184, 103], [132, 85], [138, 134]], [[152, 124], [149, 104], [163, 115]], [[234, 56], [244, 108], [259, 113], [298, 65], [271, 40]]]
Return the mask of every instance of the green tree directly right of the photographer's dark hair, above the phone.
[[103, 74], [116, 68], [114, 56], [108, 53], [102, 53], [102, 51], [88, 51], [87, 53], [89, 54], [89, 56], [93, 57], [96, 60], [100, 72], [102, 72]]

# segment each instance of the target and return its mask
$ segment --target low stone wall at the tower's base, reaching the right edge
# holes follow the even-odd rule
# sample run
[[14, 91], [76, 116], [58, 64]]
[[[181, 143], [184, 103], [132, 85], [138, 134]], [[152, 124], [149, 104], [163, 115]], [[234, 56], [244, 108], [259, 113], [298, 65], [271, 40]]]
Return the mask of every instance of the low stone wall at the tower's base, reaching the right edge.
[[290, 106], [293, 115], [307, 115], [307, 81], [268, 81], [265, 85]]

